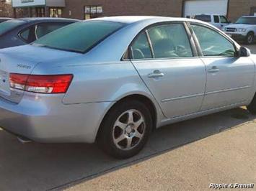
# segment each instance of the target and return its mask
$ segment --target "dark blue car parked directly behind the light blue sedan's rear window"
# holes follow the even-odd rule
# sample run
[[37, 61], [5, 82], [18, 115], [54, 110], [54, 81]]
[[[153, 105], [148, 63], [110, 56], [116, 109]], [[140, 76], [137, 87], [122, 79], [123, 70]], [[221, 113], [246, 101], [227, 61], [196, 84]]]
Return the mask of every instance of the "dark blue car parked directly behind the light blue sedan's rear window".
[[2, 22], [0, 48], [30, 44], [45, 34], [78, 21], [60, 18], [23, 18]]

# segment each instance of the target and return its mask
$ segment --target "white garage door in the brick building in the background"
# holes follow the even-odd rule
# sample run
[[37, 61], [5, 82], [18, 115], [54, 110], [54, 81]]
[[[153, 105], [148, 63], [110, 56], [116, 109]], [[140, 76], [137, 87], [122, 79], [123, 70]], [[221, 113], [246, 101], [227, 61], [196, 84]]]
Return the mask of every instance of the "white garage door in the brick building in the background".
[[185, 1], [184, 17], [195, 14], [226, 15], [228, 0], [187, 0]]

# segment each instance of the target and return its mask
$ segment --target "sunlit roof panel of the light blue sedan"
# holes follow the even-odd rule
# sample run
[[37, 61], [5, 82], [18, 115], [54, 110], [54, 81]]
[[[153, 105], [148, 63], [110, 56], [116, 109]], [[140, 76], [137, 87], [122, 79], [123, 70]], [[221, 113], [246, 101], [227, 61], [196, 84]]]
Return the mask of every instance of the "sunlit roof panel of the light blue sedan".
[[[105, 22], [120, 22], [124, 24], [133, 24], [137, 22], [172, 22], [172, 21], [187, 21], [187, 22], [201, 22], [195, 19], [187, 19], [181, 17], [157, 17], [157, 16], [118, 16], [118, 17], [101, 17], [90, 19], [91, 21], [105, 21]], [[87, 20], [89, 21], [89, 20]], [[85, 21], [86, 22], [86, 21]]]

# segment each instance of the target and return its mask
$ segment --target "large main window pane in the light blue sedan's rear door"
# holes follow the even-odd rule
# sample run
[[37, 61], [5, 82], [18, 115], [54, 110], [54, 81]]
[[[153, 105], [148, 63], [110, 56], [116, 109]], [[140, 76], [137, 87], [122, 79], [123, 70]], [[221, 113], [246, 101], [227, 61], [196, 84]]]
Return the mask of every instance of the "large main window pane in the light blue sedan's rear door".
[[148, 30], [154, 57], [192, 57], [187, 33], [182, 24], [167, 24]]

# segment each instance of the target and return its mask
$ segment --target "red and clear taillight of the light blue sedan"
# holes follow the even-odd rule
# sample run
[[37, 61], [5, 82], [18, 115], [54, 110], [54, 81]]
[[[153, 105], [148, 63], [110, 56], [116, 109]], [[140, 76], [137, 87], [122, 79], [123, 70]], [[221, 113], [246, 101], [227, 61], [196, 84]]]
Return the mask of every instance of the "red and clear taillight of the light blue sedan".
[[35, 93], [66, 93], [73, 75], [25, 75], [11, 73], [10, 86]]

